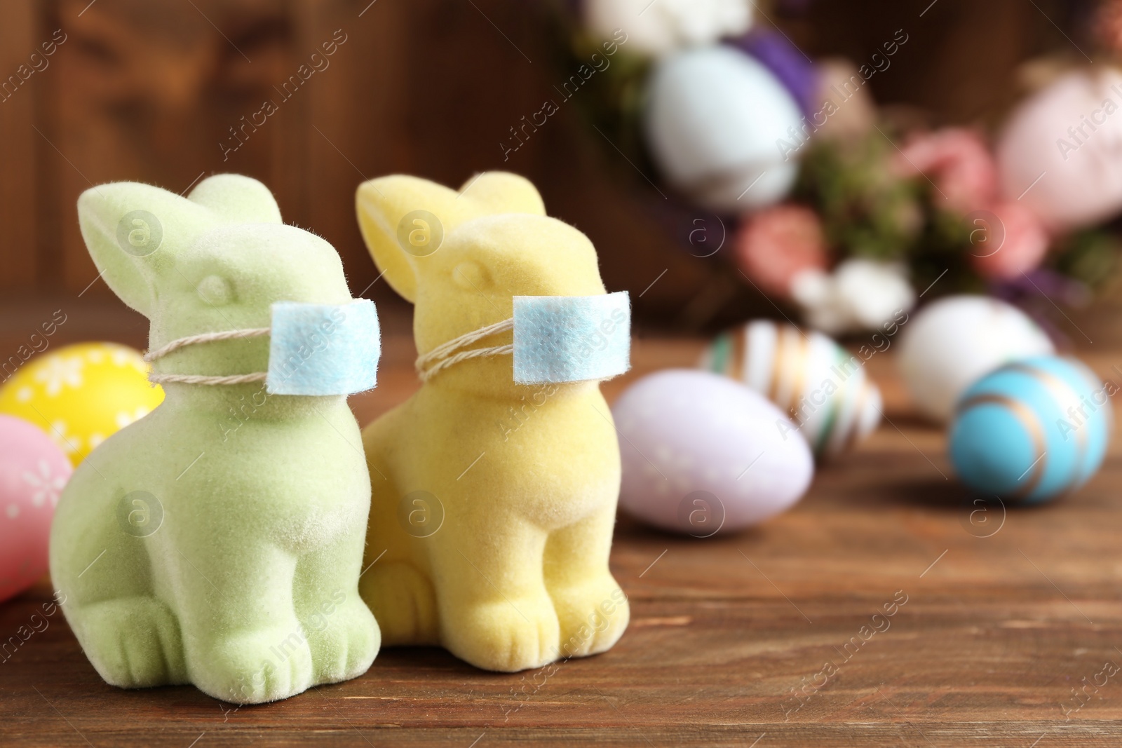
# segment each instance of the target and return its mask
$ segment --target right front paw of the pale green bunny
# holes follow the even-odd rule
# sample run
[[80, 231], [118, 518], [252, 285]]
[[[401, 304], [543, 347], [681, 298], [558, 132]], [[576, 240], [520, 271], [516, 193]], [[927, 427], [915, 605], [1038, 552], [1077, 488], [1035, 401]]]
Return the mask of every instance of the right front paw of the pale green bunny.
[[332, 611], [316, 611], [303, 621], [312, 650], [316, 683], [338, 683], [369, 669], [381, 645], [374, 615], [352, 595]]

